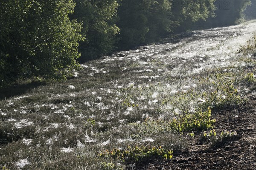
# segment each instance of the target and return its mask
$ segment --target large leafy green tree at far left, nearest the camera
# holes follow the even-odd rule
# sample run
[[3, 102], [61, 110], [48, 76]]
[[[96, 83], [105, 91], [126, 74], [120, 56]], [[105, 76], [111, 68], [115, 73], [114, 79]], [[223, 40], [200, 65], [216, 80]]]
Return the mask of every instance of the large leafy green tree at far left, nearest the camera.
[[0, 84], [19, 77], [64, 79], [78, 68], [81, 24], [72, 0], [0, 0]]

